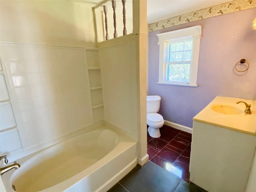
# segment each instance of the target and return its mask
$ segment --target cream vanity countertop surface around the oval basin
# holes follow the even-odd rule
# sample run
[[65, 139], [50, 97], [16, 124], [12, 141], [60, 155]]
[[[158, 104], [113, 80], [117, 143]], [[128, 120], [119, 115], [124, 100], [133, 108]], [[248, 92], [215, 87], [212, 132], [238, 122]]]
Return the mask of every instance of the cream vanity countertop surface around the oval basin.
[[[242, 113], [230, 115], [221, 114], [212, 110], [212, 106], [215, 104], [228, 104], [245, 110], [245, 104], [236, 104], [237, 101], [244, 101], [247, 104], [251, 104], [252, 114]], [[217, 96], [193, 120], [256, 136], [256, 100]]]

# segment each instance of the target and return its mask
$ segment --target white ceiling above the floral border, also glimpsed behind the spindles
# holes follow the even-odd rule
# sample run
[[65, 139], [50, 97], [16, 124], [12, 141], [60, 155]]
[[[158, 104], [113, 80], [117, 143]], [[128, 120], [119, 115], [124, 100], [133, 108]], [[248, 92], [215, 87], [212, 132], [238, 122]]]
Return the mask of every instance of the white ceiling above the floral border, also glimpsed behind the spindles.
[[[79, 0], [77, 0], [79, 1]], [[80, 0], [94, 6], [103, 0]], [[110, 0], [111, 1], [111, 0]], [[121, 1], [121, 0], [119, 0]], [[126, 0], [126, 2], [132, 0]], [[147, 0], [148, 24], [190, 13], [210, 6], [230, 2], [231, 0]], [[111, 6], [110, 6], [111, 7]], [[128, 9], [127, 9], [128, 10]], [[129, 12], [126, 10], [126, 14]], [[127, 15], [128, 17], [128, 15]]]

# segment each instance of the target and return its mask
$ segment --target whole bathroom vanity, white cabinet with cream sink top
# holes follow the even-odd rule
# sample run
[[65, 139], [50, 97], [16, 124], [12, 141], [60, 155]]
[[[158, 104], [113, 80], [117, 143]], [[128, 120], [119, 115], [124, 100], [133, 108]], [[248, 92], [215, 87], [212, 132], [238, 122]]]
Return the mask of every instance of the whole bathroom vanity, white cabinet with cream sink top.
[[[252, 114], [245, 114], [251, 104]], [[193, 118], [190, 181], [209, 192], [245, 192], [256, 148], [256, 101], [217, 96]]]

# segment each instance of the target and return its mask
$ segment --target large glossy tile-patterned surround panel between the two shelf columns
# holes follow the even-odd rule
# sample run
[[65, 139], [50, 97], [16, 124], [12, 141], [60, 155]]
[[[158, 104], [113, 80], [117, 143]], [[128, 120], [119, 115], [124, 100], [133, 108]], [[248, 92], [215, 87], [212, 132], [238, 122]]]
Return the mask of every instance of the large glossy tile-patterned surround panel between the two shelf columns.
[[2, 44], [24, 149], [93, 123], [83, 48]]

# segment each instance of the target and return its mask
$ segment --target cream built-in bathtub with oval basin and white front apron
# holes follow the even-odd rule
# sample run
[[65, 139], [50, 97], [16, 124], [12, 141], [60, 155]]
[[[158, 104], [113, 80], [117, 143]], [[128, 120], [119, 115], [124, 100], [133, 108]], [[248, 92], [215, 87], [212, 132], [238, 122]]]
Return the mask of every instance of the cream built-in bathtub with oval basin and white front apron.
[[33, 156], [14, 171], [10, 184], [17, 192], [106, 192], [136, 164], [136, 141], [95, 130]]

